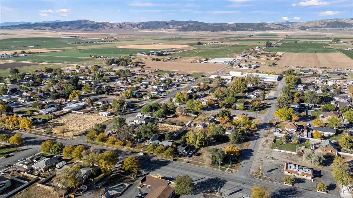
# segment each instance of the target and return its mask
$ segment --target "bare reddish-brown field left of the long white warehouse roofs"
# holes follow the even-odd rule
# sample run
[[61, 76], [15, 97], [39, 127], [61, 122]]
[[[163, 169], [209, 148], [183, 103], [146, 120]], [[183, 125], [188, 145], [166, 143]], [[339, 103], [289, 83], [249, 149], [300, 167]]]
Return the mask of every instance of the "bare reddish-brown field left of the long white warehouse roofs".
[[226, 65], [213, 63], [179, 63], [179, 62], [163, 62], [163, 61], [144, 61], [144, 69], [160, 69], [184, 72], [215, 72]]

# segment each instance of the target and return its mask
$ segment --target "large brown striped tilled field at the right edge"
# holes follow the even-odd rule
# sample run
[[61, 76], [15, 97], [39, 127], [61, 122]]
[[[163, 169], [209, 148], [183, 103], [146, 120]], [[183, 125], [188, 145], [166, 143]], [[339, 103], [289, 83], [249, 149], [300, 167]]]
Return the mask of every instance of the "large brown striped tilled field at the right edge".
[[277, 61], [277, 66], [303, 66], [327, 67], [327, 68], [346, 68], [352, 67], [353, 60], [341, 53], [330, 54], [310, 54], [310, 53], [284, 53], [282, 58]]

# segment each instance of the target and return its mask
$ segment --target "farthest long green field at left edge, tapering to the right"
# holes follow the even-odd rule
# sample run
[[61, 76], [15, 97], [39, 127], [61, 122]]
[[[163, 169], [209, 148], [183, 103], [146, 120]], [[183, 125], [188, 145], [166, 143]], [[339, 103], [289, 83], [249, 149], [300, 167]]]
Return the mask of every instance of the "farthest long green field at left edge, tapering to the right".
[[[38, 38], [9, 38], [1, 41], [0, 50], [25, 50], [25, 49], [52, 49], [62, 47], [75, 47], [83, 45], [104, 45], [107, 43], [84, 43], [84, 44], [71, 44], [73, 42], [85, 41], [100, 41], [98, 39], [78, 39], [78, 38], [56, 38], [56, 37], [38, 37]], [[115, 43], [115, 42], [114, 42]], [[117, 42], [116, 42], [117, 43]], [[21, 47], [29, 45], [40, 45], [38, 47], [24, 47], [24, 48], [11, 48], [11, 46]]]

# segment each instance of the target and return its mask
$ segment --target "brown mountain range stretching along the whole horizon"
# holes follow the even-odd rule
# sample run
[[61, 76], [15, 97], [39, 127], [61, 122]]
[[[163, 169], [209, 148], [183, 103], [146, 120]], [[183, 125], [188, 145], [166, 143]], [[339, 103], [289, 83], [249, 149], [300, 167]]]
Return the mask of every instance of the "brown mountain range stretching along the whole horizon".
[[147, 21], [140, 23], [110, 23], [90, 20], [43, 21], [1, 26], [1, 29], [34, 29], [55, 31], [104, 31], [104, 30], [175, 30], [175, 31], [263, 31], [352, 28], [353, 19], [322, 19], [306, 22], [280, 23], [203, 23], [199, 21]]

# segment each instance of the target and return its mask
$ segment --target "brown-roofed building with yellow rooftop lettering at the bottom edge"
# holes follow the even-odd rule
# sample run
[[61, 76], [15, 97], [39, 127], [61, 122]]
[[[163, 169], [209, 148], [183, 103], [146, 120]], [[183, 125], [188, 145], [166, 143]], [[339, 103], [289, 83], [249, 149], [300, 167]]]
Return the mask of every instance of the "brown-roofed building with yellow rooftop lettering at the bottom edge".
[[[159, 174], [157, 174], [159, 176]], [[162, 179], [161, 176], [155, 174], [146, 175], [139, 183], [139, 188], [147, 186], [151, 191], [145, 198], [173, 198], [175, 197], [174, 187], [170, 185], [170, 181]]]

